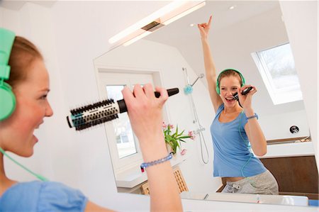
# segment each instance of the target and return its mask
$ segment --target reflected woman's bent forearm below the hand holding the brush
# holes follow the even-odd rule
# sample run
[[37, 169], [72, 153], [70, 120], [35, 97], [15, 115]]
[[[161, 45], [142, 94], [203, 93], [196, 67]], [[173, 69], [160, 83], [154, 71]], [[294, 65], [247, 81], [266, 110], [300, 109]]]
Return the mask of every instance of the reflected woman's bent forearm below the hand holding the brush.
[[[254, 116], [254, 111], [249, 109], [245, 111], [245, 115], [247, 117]], [[264, 133], [262, 132], [262, 128], [260, 127], [257, 118], [250, 118], [247, 121], [247, 136], [250, 140], [250, 144], [252, 145], [252, 150], [255, 155], [262, 156], [267, 153], [267, 141], [264, 138]]]

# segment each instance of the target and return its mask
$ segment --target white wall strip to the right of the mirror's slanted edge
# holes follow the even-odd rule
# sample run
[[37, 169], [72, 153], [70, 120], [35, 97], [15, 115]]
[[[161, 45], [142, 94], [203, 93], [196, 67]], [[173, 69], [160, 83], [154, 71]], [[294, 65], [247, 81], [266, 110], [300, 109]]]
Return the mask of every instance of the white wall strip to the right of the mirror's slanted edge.
[[[318, 167], [318, 1], [282, 1]], [[298, 16], [296, 15], [298, 14]]]

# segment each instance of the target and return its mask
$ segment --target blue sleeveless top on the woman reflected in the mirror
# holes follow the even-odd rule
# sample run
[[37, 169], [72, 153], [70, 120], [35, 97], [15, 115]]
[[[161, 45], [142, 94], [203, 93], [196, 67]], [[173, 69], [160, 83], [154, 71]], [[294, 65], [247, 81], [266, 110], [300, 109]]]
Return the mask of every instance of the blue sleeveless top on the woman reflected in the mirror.
[[219, 116], [223, 109], [224, 104], [218, 108], [211, 124], [214, 148], [213, 176], [251, 177], [262, 174], [267, 169], [250, 152], [245, 132], [245, 113], [240, 113], [233, 121], [221, 123]]

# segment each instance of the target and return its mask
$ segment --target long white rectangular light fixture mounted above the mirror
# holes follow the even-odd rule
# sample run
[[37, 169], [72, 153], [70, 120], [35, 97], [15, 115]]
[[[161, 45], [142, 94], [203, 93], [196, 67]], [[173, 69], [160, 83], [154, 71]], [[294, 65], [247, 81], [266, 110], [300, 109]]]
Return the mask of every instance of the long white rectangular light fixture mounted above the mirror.
[[150, 16], [143, 18], [132, 26], [121, 31], [121, 33], [114, 35], [108, 40], [108, 43], [118, 45], [123, 44], [124, 46], [130, 45], [149, 35], [158, 28], [168, 25], [169, 23], [200, 9], [205, 4], [205, 1], [172, 1], [172, 3], [155, 11], [150, 14]]

